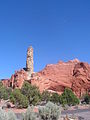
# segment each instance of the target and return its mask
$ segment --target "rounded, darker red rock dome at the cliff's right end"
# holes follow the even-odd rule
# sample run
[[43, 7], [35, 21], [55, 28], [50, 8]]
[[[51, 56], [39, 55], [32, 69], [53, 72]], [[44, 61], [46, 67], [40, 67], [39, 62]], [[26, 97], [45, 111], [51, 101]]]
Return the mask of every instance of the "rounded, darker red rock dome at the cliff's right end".
[[88, 63], [79, 62], [73, 70], [72, 90], [77, 96], [84, 93], [90, 94], [90, 65]]

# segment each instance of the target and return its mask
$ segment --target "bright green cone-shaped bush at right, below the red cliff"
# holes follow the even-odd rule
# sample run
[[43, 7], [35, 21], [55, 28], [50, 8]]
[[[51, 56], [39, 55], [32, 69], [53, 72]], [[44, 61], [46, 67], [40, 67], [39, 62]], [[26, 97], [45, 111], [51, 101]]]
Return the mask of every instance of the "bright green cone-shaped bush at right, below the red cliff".
[[71, 89], [65, 88], [63, 94], [60, 96], [60, 103], [62, 105], [76, 105], [79, 104], [79, 99], [77, 96], [72, 92]]

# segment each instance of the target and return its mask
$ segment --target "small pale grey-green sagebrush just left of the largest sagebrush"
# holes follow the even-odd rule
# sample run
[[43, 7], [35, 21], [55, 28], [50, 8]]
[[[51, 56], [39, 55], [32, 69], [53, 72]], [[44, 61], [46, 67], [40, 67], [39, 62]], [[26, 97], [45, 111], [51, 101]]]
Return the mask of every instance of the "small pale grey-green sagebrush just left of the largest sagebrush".
[[34, 107], [29, 106], [24, 114], [23, 120], [36, 120], [37, 114], [34, 112]]

